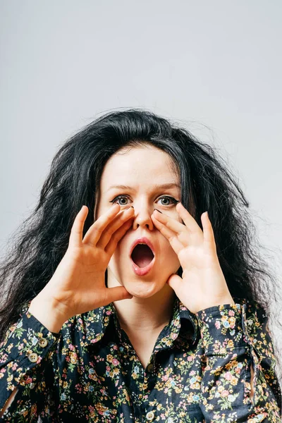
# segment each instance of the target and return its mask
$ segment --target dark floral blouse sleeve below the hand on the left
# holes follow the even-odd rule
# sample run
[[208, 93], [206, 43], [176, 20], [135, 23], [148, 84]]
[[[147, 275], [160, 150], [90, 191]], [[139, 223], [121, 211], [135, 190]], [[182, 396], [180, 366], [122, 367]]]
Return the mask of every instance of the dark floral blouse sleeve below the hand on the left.
[[[25, 310], [0, 344], [0, 410], [18, 388], [0, 422], [30, 421], [51, 403], [51, 354], [61, 338]], [[16, 419], [16, 417], [18, 419]]]

